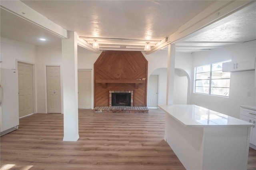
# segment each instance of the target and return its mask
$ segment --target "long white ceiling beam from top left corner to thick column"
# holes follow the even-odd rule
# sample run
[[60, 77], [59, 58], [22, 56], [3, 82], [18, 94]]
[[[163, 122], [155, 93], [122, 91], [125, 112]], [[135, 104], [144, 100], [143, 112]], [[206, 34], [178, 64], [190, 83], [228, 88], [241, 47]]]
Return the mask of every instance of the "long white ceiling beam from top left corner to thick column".
[[19, 0], [1, 1], [0, 8], [23, 18], [45, 30], [52, 32], [60, 38], [68, 38], [68, 32], [58, 24], [55, 24], [42, 14], [36, 12]]

